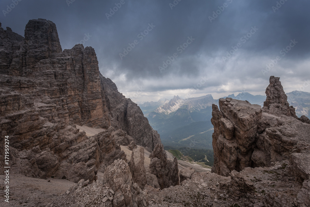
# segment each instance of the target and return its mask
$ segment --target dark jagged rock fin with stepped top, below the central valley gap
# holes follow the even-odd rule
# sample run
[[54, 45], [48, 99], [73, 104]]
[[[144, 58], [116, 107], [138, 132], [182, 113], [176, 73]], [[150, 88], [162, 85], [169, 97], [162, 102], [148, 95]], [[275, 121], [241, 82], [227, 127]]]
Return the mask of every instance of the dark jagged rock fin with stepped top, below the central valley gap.
[[161, 189], [179, 185], [178, 161], [167, 159], [166, 151], [162, 144], [157, 144], [154, 151], [150, 154], [150, 172], [157, 177]]

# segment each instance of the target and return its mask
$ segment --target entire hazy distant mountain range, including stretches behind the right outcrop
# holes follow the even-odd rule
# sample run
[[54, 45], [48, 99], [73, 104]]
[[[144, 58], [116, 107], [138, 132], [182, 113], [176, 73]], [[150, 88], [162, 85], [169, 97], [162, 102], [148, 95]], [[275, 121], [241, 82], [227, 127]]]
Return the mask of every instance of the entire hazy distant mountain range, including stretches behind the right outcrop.
[[[266, 100], [266, 96], [254, 96], [248, 92], [226, 97], [249, 101], [260, 106], [263, 106]], [[290, 105], [294, 106], [296, 115], [309, 117], [310, 93], [293, 91], [287, 93], [287, 97]], [[218, 105], [218, 102], [218, 99], [215, 100], [208, 94], [188, 99], [174, 96], [171, 100], [160, 99], [139, 106], [150, 125], [160, 134], [165, 146], [171, 146], [173, 149], [188, 146], [196, 149], [212, 149], [213, 125], [210, 119], [212, 104]]]

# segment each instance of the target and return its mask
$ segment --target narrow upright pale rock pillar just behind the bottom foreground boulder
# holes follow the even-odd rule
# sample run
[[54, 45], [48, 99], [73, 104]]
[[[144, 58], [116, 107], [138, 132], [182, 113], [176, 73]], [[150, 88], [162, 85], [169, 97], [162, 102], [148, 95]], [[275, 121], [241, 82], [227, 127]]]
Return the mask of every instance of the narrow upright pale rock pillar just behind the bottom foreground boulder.
[[131, 160], [128, 163], [130, 172], [134, 182], [136, 182], [141, 189], [147, 183], [146, 171], [144, 167], [144, 149], [142, 147], [133, 149], [131, 153]]

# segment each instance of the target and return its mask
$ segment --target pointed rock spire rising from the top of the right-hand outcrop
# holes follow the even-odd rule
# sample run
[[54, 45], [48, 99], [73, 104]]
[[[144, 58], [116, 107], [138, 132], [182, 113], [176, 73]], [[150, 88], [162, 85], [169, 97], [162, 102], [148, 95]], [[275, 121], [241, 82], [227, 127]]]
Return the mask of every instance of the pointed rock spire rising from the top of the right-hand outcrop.
[[298, 118], [293, 106], [287, 102], [287, 96], [283, 90], [279, 77], [270, 76], [269, 86], [266, 88], [266, 101], [264, 101], [263, 110], [269, 114], [293, 116]]

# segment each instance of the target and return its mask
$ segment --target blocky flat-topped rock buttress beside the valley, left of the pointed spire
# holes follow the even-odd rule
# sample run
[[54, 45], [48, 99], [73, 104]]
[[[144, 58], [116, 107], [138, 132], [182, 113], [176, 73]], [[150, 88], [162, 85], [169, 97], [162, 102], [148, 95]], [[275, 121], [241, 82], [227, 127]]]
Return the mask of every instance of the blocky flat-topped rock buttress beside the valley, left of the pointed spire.
[[219, 107], [212, 106], [211, 123], [215, 154], [212, 171], [223, 176], [236, 169], [251, 166], [252, 145], [255, 143], [262, 109], [247, 101], [220, 99]]

